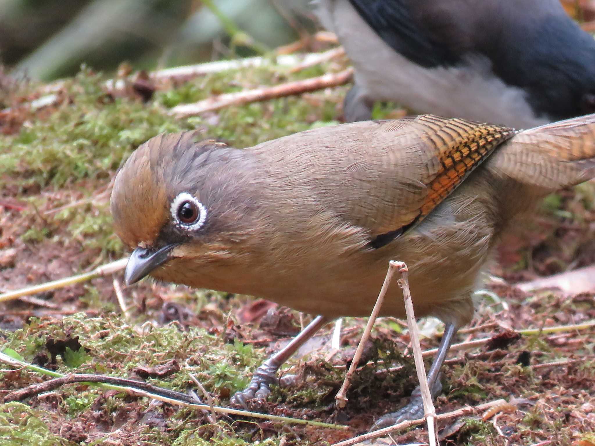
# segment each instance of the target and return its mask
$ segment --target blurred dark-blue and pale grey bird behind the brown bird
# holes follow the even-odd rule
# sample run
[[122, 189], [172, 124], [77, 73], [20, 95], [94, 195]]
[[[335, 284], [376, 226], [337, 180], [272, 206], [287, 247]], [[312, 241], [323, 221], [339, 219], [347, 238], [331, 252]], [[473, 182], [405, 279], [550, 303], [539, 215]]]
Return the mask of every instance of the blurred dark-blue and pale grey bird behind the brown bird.
[[595, 112], [595, 40], [559, 0], [317, 0], [355, 68], [346, 121], [377, 100], [530, 128]]

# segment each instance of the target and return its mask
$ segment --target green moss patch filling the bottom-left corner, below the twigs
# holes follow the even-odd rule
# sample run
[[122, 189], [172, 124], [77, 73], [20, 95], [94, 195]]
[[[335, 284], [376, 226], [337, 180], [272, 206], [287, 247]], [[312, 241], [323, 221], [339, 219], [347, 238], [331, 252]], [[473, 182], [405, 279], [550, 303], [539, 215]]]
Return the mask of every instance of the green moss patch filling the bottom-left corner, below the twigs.
[[[26, 404], [0, 404], [0, 446], [68, 446], [72, 443], [52, 434], [42, 413]], [[45, 414], [47, 416], [47, 414]]]

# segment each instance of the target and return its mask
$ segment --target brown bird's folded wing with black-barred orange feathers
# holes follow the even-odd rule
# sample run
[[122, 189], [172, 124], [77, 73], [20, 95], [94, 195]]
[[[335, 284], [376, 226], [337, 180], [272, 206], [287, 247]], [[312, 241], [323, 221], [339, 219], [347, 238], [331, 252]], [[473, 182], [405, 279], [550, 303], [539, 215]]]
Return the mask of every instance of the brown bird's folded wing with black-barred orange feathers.
[[424, 219], [513, 134], [433, 115], [379, 123], [367, 134], [369, 143], [346, 144], [350, 164], [337, 183], [344, 200], [336, 205], [370, 231], [372, 246], [382, 246]]

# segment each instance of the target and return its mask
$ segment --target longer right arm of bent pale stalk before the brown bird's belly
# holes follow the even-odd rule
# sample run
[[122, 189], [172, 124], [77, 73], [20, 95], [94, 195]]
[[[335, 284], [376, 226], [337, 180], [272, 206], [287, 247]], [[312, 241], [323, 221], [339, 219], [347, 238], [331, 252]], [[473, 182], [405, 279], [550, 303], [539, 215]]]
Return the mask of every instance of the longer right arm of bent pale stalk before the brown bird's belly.
[[428, 385], [428, 379], [425, 374], [424, 357], [421, 354], [421, 344], [419, 344], [419, 332], [417, 329], [417, 323], [415, 322], [411, 291], [409, 290], [409, 268], [407, 268], [405, 262], [395, 262], [394, 260], [391, 260], [389, 263], [392, 268], [398, 269], [401, 274], [400, 279], [397, 280], [397, 284], [399, 284], [399, 287], [403, 290], [403, 300], [405, 301], [405, 312], [407, 314], [407, 325], [409, 326], [411, 348], [413, 350], [413, 357], [415, 360], [415, 371], [417, 372], [419, 391], [421, 392], [421, 399], [424, 403], [424, 414], [425, 418], [427, 419], [428, 437], [430, 438], [430, 446], [434, 446], [437, 444], [436, 409], [434, 409], [430, 385]]

